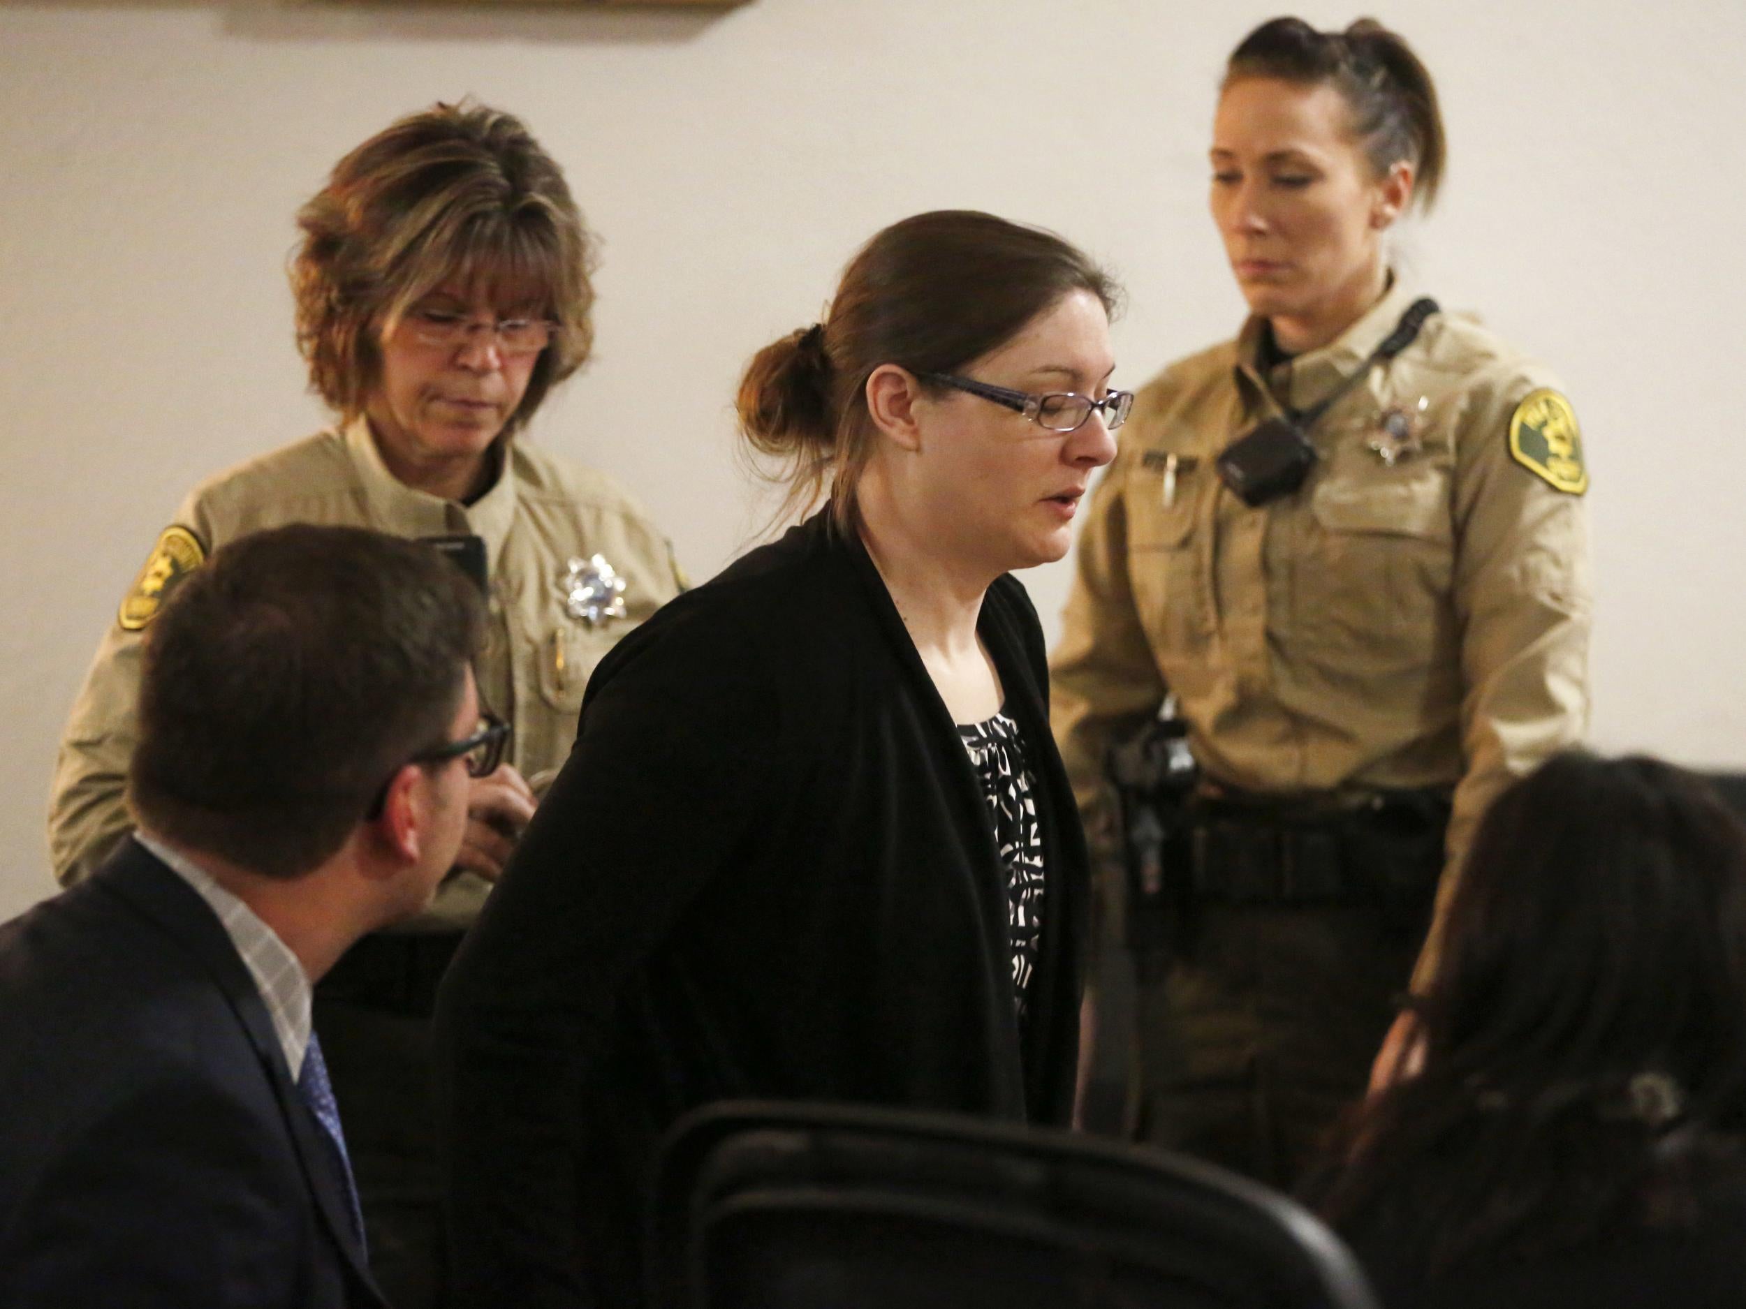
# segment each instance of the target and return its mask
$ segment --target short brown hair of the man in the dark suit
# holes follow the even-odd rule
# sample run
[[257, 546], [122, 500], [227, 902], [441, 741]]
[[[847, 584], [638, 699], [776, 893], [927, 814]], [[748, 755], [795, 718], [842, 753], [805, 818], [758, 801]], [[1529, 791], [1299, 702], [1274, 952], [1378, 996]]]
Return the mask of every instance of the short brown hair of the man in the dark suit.
[[449, 740], [482, 632], [477, 588], [428, 545], [307, 524], [239, 538], [147, 632], [134, 819], [253, 873], [314, 869]]

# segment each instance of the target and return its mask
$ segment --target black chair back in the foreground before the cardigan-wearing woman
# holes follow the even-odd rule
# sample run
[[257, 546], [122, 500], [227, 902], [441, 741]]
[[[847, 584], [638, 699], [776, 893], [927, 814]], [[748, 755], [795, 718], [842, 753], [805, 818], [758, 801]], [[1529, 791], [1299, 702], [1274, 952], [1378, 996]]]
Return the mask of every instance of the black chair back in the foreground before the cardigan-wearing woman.
[[667, 1138], [650, 1241], [656, 1309], [1376, 1309], [1266, 1187], [943, 1114], [700, 1110]]

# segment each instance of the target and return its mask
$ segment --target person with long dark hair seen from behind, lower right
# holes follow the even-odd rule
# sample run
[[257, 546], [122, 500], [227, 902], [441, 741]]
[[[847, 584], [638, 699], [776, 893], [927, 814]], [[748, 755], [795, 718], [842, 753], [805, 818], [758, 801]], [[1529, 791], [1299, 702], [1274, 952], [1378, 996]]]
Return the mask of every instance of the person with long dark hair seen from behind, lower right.
[[1746, 827], [1709, 787], [1575, 752], [1516, 782], [1414, 1014], [1418, 1070], [1311, 1187], [1385, 1304], [1739, 1304]]

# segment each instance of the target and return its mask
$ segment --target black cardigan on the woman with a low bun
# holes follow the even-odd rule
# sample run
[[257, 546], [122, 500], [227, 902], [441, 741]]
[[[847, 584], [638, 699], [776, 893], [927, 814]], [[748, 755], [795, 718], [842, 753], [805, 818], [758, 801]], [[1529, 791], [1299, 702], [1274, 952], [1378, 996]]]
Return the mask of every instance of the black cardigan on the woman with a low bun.
[[443, 984], [459, 1304], [636, 1304], [655, 1143], [711, 1100], [1069, 1121], [1086, 852], [1014, 578], [978, 634], [1046, 841], [1025, 1040], [976, 773], [866, 550], [821, 513], [601, 661]]

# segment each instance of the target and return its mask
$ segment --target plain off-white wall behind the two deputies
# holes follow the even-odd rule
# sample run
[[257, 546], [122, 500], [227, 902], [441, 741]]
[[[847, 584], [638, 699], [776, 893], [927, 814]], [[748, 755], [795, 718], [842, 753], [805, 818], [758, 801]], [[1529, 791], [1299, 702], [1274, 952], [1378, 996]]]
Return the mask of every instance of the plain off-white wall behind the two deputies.
[[[1446, 305], [1554, 361], [1584, 419], [1594, 740], [1746, 764], [1746, 5], [1372, 9], [1435, 70], [1451, 134], [1444, 208], [1404, 253]], [[1110, 262], [1128, 384], [1229, 335], [1206, 127], [1222, 56], [1273, 12], [0, 0], [0, 916], [51, 890], [61, 721], [166, 517], [321, 422], [283, 265], [293, 209], [351, 145], [473, 93], [566, 166], [606, 237], [599, 354], [534, 436], [625, 478], [702, 578], [760, 522], [737, 368], [817, 318], [885, 222], [978, 206]], [[1065, 569], [1028, 581], [1053, 625]]]

